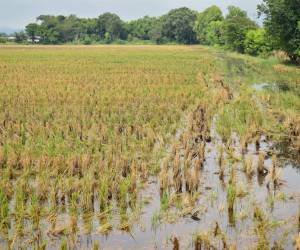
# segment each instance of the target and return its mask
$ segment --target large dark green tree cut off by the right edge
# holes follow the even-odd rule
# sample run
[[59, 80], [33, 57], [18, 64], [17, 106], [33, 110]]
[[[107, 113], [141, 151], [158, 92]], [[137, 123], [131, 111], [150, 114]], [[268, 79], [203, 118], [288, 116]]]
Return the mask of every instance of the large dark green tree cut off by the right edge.
[[291, 61], [300, 61], [300, 1], [263, 0], [258, 6], [264, 16], [264, 26], [278, 49], [284, 50]]

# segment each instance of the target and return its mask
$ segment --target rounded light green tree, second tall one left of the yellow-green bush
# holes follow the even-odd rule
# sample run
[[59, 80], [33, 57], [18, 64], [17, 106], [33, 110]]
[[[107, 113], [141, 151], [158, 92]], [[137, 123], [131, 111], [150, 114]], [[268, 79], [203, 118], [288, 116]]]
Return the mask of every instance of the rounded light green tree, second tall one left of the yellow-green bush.
[[[194, 26], [198, 41], [201, 44], [217, 43], [221, 31], [220, 24], [223, 20], [222, 11], [217, 6], [212, 6], [199, 13]], [[208, 36], [210, 37], [208, 38]]]

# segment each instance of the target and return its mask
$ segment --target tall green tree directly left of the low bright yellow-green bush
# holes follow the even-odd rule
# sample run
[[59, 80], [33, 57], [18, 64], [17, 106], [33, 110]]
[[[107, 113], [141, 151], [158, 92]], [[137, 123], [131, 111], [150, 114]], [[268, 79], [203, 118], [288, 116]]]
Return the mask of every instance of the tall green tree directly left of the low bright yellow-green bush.
[[238, 7], [229, 6], [228, 11], [223, 25], [225, 45], [229, 49], [244, 53], [246, 34], [249, 30], [256, 29], [257, 25], [247, 16], [246, 11]]

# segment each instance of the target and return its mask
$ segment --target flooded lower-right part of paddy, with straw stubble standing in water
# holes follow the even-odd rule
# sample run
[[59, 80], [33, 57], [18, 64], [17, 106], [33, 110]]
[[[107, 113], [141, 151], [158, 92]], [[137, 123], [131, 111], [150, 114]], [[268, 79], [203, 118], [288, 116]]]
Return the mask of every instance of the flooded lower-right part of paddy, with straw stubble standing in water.
[[[276, 144], [263, 135], [246, 148], [233, 135], [231, 146], [226, 148], [216, 132], [215, 122], [216, 117], [194, 190], [185, 179], [185, 151], [180, 145], [185, 130], [181, 129], [175, 136], [182, 171], [180, 191], [175, 190], [172, 173], [168, 176], [167, 195], [162, 192], [159, 178], [153, 176], [143, 183], [137, 198], [140, 209], [128, 227], [118, 228], [121, 218], [116, 203], [109, 212], [101, 212], [99, 201], [95, 201], [94, 212], [78, 220], [76, 233], [67, 232], [72, 219], [62, 212], [54, 231], [45, 235], [36, 232], [34, 237], [48, 239], [47, 249], [58, 249], [62, 235], [73, 249], [92, 249], [95, 242], [101, 249], [232, 249], [234, 246], [251, 249], [264, 240], [273, 247], [294, 249], [292, 237], [300, 229], [299, 164], [277, 158], [280, 152]], [[200, 141], [193, 143], [194, 149], [199, 147]], [[192, 165], [197, 164], [199, 156], [194, 157]], [[231, 198], [230, 192], [234, 193]], [[111, 220], [106, 229], [101, 229], [105, 213]], [[45, 228], [50, 227], [48, 222], [43, 223]], [[39, 244], [42, 246], [42, 242]], [[6, 248], [7, 243], [2, 241], [0, 246]]]

